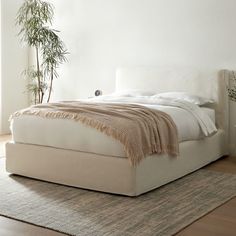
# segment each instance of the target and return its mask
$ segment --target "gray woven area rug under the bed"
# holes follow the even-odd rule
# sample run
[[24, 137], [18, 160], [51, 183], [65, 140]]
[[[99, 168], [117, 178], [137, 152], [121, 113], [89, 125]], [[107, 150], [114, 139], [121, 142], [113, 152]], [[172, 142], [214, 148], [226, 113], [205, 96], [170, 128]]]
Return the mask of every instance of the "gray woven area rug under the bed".
[[136, 198], [0, 175], [0, 215], [79, 236], [173, 235], [236, 196], [236, 175], [199, 170]]

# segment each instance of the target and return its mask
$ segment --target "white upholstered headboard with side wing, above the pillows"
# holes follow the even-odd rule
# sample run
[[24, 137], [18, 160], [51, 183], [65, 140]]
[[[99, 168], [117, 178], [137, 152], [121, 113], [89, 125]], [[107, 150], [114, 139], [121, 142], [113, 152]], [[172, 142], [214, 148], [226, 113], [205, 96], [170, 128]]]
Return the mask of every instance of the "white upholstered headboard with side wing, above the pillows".
[[116, 91], [145, 89], [156, 92], [180, 91], [216, 101], [216, 123], [228, 135], [229, 99], [227, 86], [232, 72], [198, 70], [189, 67], [132, 67], [116, 71]]

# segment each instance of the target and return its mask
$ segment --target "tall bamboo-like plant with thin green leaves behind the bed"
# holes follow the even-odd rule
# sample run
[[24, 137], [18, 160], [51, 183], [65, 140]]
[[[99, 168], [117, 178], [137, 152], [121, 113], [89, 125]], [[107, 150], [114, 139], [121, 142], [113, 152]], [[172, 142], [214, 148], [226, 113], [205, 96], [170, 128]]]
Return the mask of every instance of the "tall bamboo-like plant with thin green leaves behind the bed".
[[16, 17], [21, 40], [35, 52], [35, 64], [24, 71], [29, 79], [27, 90], [33, 95], [34, 103], [49, 102], [53, 80], [58, 77], [57, 69], [66, 61], [68, 53], [58, 36], [58, 30], [50, 28], [54, 15], [53, 6], [42, 0], [25, 0]]

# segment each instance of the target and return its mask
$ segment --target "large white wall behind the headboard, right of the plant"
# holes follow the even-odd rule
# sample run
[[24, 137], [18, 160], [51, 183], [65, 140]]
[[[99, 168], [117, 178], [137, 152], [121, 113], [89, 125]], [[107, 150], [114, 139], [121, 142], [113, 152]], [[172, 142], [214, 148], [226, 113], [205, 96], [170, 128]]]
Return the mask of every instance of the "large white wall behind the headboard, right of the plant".
[[235, 68], [235, 0], [51, 0], [69, 61], [54, 99], [114, 89], [115, 68]]

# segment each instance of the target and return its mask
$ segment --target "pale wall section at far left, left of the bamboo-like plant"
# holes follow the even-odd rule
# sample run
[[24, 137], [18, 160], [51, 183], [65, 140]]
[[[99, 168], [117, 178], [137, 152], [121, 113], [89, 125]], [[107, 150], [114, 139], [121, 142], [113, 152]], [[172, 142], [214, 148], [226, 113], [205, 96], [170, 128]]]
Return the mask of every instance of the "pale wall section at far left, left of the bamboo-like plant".
[[20, 46], [15, 27], [22, 0], [1, 0], [1, 132], [9, 133], [9, 116], [28, 106], [26, 81], [21, 78], [28, 63], [27, 49]]

